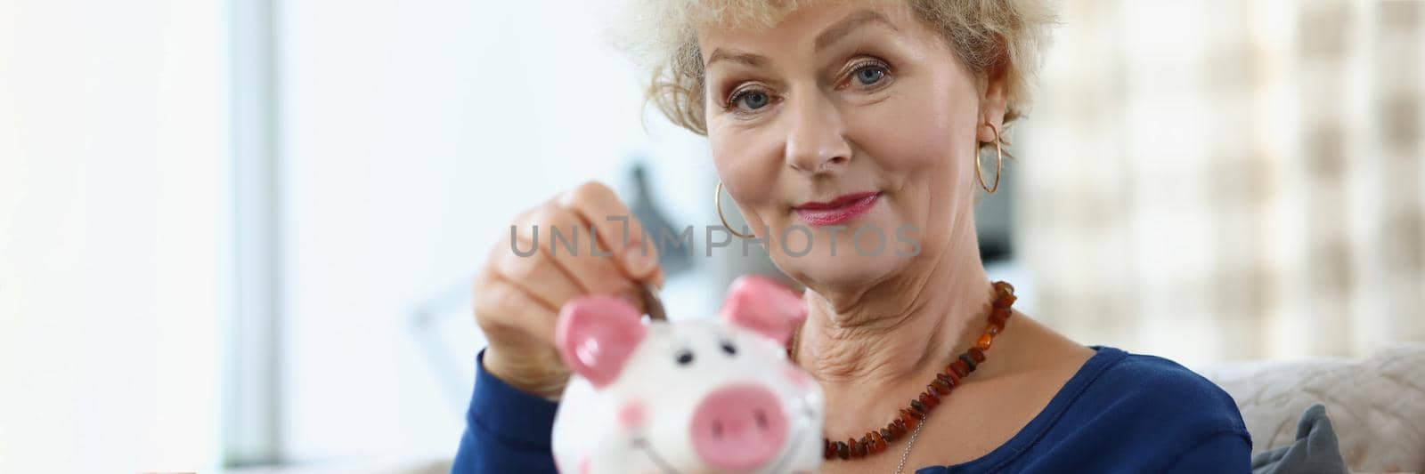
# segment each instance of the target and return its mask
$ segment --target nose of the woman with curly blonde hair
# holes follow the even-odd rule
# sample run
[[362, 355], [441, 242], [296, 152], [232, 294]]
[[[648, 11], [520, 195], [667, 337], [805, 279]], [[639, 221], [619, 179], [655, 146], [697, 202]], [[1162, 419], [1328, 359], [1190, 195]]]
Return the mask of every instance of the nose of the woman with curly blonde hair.
[[835, 105], [824, 100], [802, 100], [789, 105], [792, 111], [784, 151], [788, 167], [824, 174], [851, 161], [851, 144]]

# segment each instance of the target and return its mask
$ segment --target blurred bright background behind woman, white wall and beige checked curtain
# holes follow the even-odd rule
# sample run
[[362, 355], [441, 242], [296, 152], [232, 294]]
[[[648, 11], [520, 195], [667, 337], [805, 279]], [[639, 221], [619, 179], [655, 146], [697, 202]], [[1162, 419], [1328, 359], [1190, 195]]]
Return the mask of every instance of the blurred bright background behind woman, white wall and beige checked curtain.
[[[443, 470], [510, 218], [717, 222], [604, 7], [0, 0], [0, 473]], [[1023, 310], [1188, 366], [1425, 340], [1425, 3], [1062, 14], [978, 209]], [[774, 270], [664, 263], [674, 317]]]

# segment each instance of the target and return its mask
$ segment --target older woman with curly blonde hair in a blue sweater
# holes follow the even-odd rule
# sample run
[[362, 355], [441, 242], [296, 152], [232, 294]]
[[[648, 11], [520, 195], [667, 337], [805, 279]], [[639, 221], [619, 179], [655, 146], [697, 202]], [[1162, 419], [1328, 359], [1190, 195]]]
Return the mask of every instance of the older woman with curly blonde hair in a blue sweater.
[[[791, 353], [825, 393], [822, 471], [1250, 471], [1251, 440], [1223, 390], [1166, 359], [1069, 340], [1013, 312], [1012, 286], [986, 278], [973, 206], [979, 192], [995, 192], [1000, 132], [1027, 105], [1053, 19], [1045, 6], [658, 0], [644, 9], [657, 26], [644, 38], [664, 51], [650, 100], [708, 137], [725, 194], [757, 233], [748, 238], [811, 235], [768, 251], [807, 286], [809, 317]], [[980, 165], [982, 155], [995, 164]], [[520, 216], [524, 233], [510, 238], [529, 248], [536, 225], [623, 235], [623, 222], [606, 219], [621, 215], [628, 209], [613, 192], [589, 184]], [[913, 248], [851, 252], [859, 226], [915, 229]], [[553, 470], [550, 427], [569, 377], [553, 349], [559, 307], [661, 282], [638, 241], [613, 245], [611, 256], [554, 253], [549, 243], [519, 258], [510, 243], [494, 248], [475, 283], [490, 344], [456, 473]], [[808, 255], [787, 251], [807, 243]], [[942, 401], [948, 387], [955, 396]]]

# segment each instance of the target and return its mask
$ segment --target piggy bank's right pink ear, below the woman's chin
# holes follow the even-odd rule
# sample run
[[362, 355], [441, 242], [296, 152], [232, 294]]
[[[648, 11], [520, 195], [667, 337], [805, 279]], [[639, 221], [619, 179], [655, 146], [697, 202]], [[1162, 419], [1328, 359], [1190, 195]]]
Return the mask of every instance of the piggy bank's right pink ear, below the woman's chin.
[[722, 303], [722, 319], [787, 344], [792, 330], [807, 319], [799, 295], [768, 278], [740, 276]]

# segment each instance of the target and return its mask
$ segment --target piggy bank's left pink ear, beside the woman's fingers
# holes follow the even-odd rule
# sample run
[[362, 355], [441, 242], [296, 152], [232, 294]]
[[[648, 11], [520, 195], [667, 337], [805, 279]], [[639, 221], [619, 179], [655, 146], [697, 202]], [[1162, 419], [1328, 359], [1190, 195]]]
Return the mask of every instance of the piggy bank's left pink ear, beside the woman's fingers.
[[554, 343], [564, 364], [594, 387], [618, 379], [647, 327], [638, 310], [617, 297], [590, 296], [564, 303], [554, 329]]

